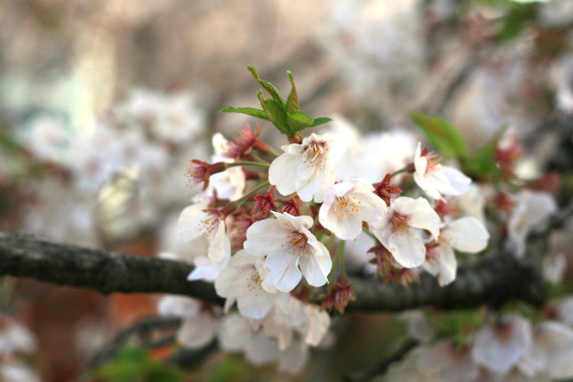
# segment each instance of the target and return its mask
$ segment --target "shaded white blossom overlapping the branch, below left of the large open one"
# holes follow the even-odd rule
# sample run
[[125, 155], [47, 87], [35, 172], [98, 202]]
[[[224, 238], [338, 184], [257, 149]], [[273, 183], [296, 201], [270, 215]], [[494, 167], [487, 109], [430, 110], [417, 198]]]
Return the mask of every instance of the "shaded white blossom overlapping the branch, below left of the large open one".
[[240, 250], [215, 280], [215, 290], [227, 298], [226, 310], [236, 301], [246, 318], [264, 318], [273, 307], [277, 289], [263, 281], [263, 259]]

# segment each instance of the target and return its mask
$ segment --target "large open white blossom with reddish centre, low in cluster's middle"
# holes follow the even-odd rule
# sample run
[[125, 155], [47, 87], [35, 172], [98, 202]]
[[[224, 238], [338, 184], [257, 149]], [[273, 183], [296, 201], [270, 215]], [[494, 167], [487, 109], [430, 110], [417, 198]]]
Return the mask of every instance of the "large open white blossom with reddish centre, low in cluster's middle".
[[332, 260], [329, 250], [309, 231], [312, 217], [273, 215], [277, 218], [253, 223], [244, 242], [244, 249], [253, 256], [266, 256], [266, 283], [281, 292], [292, 291], [302, 276], [312, 286], [326, 284]]

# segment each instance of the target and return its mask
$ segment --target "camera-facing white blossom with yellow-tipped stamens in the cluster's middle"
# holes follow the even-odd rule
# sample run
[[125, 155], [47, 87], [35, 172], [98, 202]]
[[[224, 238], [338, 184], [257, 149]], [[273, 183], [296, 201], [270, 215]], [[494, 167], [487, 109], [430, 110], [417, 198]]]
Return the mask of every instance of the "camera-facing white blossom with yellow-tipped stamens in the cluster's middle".
[[386, 213], [384, 200], [374, 194], [365, 179], [334, 184], [324, 194], [319, 212], [321, 225], [341, 240], [355, 240], [362, 222], [380, 221]]

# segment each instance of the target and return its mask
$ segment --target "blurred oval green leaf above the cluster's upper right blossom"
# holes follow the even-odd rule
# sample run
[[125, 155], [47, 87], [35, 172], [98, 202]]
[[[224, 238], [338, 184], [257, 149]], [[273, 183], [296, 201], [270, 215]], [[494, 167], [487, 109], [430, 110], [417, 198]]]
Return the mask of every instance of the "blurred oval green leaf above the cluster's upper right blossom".
[[412, 119], [440, 154], [455, 158], [467, 157], [466, 141], [449, 123], [423, 114], [414, 114]]

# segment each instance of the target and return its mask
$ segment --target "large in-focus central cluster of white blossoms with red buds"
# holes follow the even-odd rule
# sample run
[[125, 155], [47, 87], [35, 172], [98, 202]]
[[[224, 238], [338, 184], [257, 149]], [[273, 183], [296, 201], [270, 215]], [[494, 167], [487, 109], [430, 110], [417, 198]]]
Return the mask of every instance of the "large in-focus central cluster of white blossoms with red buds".
[[[264, 110], [224, 111], [265, 119], [269, 102], [283, 98], [251, 70], [273, 98], [259, 94]], [[271, 122], [280, 124], [276, 119]], [[446, 198], [464, 195], [471, 180], [442, 165], [421, 144], [393, 174], [379, 168], [377, 177], [370, 171], [364, 174], [370, 179], [360, 174], [346, 178], [338, 168], [344, 168], [349, 146], [354, 145], [352, 159], [363, 155], [360, 151], [367, 145], [352, 140], [347, 126], [346, 132], [312, 132], [304, 138], [300, 132], [306, 127], [297, 131], [295, 126], [279, 129], [290, 142], [282, 146], [281, 154], [261, 142], [259, 129], [246, 126], [234, 140], [214, 137], [212, 164], [192, 160], [189, 183], [202, 183], [203, 191], [184, 208], [179, 233], [184, 242], [202, 237], [209, 248], [206, 257], [195, 259], [189, 280], [214, 283], [226, 303], [222, 312], [212, 307], [191, 309], [193, 324], [185, 324], [180, 333], [183, 344], [198, 346], [208, 341], [208, 333], [209, 338], [218, 335], [223, 348], [243, 351], [254, 363], [278, 361], [282, 369], [284, 362], [298, 362], [297, 367], [286, 368], [298, 370], [308, 346], [324, 342], [329, 327], [329, 314], [317, 301], [325, 310], [342, 313], [358, 298], [346, 274], [346, 242], [370, 236], [379, 275], [406, 286], [424, 269], [441, 285], [449, 284], [458, 267], [455, 250], [476, 253], [486, 247], [489, 233], [482, 221], [461, 208], [445, 207], [449, 201], [458, 205]], [[391, 162], [391, 158], [384, 161]], [[419, 188], [408, 185], [409, 179]], [[413, 197], [402, 195], [406, 185]], [[415, 197], [420, 190], [427, 197]], [[171, 310], [184, 316], [184, 309]], [[211, 318], [210, 327], [218, 329], [200, 335], [196, 323], [205, 317]]]

